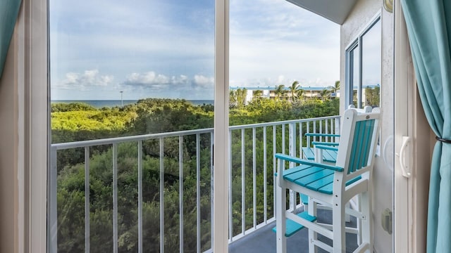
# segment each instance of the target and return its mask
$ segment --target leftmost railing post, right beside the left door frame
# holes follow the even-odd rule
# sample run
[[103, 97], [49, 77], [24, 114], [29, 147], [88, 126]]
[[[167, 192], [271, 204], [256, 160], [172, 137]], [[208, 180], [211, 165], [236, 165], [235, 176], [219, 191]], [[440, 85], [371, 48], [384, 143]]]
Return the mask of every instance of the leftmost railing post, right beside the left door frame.
[[56, 191], [58, 190], [56, 178], [58, 176], [56, 148], [50, 149], [49, 173], [49, 252], [58, 252], [58, 203]]

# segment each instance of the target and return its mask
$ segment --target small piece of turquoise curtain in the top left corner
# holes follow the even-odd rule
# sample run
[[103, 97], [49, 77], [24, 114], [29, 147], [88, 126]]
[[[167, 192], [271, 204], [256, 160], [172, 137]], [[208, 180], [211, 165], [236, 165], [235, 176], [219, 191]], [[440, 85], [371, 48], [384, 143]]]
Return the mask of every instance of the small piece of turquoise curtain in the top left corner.
[[21, 0], [0, 0], [0, 78], [13, 37]]

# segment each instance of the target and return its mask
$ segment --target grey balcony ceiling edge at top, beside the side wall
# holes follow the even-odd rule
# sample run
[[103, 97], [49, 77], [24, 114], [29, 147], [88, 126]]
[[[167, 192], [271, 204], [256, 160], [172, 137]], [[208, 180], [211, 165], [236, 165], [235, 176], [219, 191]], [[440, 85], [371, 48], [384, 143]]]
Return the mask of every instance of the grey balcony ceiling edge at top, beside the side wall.
[[286, 0], [342, 25], [357, 0]]

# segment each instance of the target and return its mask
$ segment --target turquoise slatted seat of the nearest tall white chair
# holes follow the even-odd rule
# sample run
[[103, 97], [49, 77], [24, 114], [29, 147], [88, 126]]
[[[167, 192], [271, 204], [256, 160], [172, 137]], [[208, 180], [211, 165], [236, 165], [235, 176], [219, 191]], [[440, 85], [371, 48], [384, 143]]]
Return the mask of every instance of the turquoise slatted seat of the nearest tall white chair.
[[[315, 190], [320, 193], [332, 194], [334, 171], [310, 165], [299, 165], [283, 172], [283, 179], [299, 186]], [[361, 176], [347, 181], [346, 186], [361, 179]]]

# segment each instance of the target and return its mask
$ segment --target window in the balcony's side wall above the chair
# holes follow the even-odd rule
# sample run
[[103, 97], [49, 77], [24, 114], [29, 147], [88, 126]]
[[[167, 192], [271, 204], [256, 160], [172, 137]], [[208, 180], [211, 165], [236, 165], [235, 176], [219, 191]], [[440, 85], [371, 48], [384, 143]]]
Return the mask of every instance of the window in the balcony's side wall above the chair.
[[346, 107], [381, 105], [381, 17], [346, 50]]

